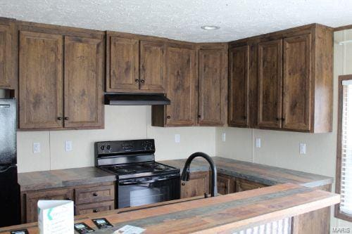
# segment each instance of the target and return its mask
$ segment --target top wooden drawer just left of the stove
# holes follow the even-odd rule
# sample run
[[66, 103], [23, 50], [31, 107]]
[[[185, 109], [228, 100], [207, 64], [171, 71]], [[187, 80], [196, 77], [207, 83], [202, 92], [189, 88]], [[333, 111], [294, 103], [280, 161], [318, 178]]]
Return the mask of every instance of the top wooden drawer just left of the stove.
[[114, 200], [114, 186], [75, 188], [76, 204]]

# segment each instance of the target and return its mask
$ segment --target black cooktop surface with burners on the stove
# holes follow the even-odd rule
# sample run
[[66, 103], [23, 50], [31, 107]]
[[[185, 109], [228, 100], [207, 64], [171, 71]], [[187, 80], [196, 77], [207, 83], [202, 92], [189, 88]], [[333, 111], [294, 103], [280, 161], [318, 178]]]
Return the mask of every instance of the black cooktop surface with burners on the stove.
[[119, 164], [101, 167], [107, 171], [111, 171], [119, 176], [140, 174], [140, 173], [151, 173], [160, 174], [168, 171], [177, 170], [174, 167], [170, 167], [158, 162], [142, 162], [136, 164]]

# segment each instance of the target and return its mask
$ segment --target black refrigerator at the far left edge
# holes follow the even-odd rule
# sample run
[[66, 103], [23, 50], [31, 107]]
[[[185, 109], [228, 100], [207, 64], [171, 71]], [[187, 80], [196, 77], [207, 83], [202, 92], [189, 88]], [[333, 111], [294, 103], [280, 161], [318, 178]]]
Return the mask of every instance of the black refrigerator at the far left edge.
[[16, 100], [0, 99], [0, 227], [20, 223]]

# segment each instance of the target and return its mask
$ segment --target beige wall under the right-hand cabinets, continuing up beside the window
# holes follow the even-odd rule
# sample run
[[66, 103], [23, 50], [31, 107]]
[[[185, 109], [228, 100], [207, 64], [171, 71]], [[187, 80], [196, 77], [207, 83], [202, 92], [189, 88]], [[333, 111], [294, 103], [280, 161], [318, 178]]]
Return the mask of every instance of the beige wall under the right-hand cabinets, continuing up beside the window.
[[[301, 134], [287, 131], [217, 128], [216, 155], [335, 176], [337, 82], [339, 74], [352, 74], [352, 43], [340, 46], [338, 42], [351, 39], [352, 30], [334, 34], [334, 126], [332, 133]], [[226, 134], [225, 142], [221, 140], [223, 132]], [[261, 139], [261, 148], [254, 147], [255, 138]], [[306, 155], [299, 155], [299, 143], [307, 144]], [[352, 228], [352, 223], [333, 218], [332, 227], [335, 226]]]

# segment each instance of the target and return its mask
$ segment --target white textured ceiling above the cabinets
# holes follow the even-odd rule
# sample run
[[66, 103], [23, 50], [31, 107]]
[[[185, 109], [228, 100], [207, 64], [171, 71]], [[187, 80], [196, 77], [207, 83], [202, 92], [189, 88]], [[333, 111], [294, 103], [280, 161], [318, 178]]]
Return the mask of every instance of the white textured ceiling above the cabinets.
[[[352, 0], [0, 0], [0, 16], [184, 41], [232, 41], [318, 22], [352, 24]], [[201, 30], [218, 25], [220, 30]]]

